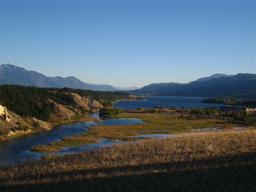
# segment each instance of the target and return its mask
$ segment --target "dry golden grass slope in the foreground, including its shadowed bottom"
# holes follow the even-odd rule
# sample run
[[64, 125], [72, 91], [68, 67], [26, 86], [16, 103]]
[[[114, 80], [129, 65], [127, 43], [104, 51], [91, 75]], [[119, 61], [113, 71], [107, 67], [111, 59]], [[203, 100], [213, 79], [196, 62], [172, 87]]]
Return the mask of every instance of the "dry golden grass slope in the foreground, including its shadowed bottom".
[[0, 191], [255, 191], [256, 131], [150, 139], [0, 167]]

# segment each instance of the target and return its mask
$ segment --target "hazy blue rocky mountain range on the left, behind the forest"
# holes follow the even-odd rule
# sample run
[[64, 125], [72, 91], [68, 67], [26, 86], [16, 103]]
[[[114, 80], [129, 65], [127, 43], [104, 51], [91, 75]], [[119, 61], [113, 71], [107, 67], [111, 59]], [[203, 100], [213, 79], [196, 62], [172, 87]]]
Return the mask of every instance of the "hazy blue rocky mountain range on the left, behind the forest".
[[80, 88], [96, 91], [115, 91], [110, 85], [94, 85], [80, 81], [78, 78], [69, 76], [66, 78], [56, 76], [47, 77], [36, 71], [28, 71], [24, 68], [11, 65], [0, 65], [0, 84], [20, 84], [25, 86], [56, 87], [56, 88]]

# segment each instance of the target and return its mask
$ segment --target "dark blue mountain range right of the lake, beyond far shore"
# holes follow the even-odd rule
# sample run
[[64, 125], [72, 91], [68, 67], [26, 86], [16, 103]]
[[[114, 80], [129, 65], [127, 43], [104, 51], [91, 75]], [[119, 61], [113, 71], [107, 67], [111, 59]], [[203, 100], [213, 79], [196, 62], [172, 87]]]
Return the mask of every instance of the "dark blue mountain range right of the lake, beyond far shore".
[[256, 74], [214, 74], [187, 84], [157, 83], [130, 91], [158, 96], [238, 97], [256, 99]]

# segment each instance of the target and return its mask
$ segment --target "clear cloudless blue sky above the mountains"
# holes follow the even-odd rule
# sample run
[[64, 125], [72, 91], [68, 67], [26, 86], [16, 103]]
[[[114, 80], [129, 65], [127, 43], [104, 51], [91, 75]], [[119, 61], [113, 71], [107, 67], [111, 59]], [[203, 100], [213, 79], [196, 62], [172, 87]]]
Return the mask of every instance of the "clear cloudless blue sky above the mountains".
[[144, 86], [255, 73], [255, 1], [3, 1], [1, 64]]

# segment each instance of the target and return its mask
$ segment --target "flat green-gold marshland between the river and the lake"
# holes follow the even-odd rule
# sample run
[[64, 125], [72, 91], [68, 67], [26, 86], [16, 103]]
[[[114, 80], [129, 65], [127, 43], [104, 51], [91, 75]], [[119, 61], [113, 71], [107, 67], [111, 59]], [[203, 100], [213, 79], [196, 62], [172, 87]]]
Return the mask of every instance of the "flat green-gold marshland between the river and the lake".
[[191, 134], [207, 132], [208, 130], [195, 130], [199, 128], [220, 127], [234, 129], [238, 124], [229, 124], [225, 120], [215, 118], [197, 119], [196, 115], [188, 118], [190, 114], [184, 114], [183, 118], [176, 118], [176, 114], [138, 114], [124, 113], [114, 117], [140, 118], [145, 123], [123, 125], [94, 125], [87, 127], [88, 132], [65, 136], [60, 141], [51, 142], [48, 145], [36, 145], [30, 148], [33, 152], [55, 152], [65, 146], [84, 145], [97, 142], [96, 140], [108, 138], [110, 140], [138, 140], [131, 136], [139, 134]]

